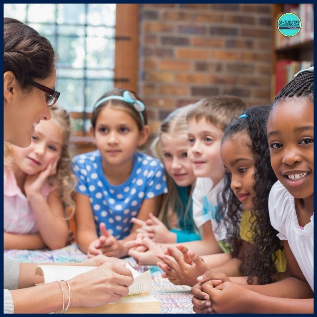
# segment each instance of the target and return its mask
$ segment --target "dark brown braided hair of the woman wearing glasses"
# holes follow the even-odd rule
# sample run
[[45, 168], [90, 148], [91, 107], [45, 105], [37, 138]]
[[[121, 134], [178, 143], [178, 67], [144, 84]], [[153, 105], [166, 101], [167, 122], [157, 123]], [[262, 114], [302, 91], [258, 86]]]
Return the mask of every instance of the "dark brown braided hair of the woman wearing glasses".
[[46, 37], [16, 19], [3, 18], [3, 73], [11, 71], [22, 89], [29, 90], [31, 80], [49, 77], [56, 60]]

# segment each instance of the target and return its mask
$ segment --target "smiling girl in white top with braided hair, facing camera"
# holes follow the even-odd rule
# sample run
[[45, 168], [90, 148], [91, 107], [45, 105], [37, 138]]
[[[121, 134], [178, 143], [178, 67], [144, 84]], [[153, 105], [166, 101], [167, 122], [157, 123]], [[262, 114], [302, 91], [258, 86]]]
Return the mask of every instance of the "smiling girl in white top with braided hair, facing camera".
[[[283, 240], [291, 277], [246, 287], [223, 279], [224, 283], [212, 289], [199, 285], [215, 278], [207, 272], [208, 276], [198, 279], [201, 283], [192, 289], [195, 312], [207, 312], [207, 301], [201, 301], [206, 292], [210, 297], [209, 306], [211, 302], [211, 309], [216, 313], [314, 312], [313, 93], [314, 73], [309, 68], [295, 75], [280, 91], [267, 126], [271, 165], [278, 178], [269, 195], [269, 216]], [[199, 287], [203, 292], [198, 291]]]

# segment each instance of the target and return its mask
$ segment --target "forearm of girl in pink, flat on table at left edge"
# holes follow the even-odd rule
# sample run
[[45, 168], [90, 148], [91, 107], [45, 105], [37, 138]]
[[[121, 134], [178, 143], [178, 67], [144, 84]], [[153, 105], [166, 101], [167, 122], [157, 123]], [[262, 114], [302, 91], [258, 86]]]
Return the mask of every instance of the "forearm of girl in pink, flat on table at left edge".
[[35, 250], [43, 249], [46, 245], [39, 233], [19, 235], [3, 232], [3, 249]]

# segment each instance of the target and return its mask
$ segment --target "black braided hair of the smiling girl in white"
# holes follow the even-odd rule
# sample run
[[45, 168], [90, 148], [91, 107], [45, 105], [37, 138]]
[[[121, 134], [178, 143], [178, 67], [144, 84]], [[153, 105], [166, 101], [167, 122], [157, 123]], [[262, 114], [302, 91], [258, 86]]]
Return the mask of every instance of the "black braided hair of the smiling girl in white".
[[295, 78], [278, 93], [272, 108], [285, 98], [292, 97], [304, 97], [310, 101], [314, 101], [314, 69], [305, 69], [300, 73], [297, 73]]

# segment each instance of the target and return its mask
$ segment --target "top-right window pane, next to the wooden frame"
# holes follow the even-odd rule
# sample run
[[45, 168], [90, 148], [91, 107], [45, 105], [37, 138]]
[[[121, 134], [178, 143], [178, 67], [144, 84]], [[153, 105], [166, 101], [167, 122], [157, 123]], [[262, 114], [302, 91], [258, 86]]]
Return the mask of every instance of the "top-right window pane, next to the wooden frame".
[[109, 25], [116, 23], [116, 4], [88, 4], [87, 22], [91, 25]]

